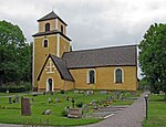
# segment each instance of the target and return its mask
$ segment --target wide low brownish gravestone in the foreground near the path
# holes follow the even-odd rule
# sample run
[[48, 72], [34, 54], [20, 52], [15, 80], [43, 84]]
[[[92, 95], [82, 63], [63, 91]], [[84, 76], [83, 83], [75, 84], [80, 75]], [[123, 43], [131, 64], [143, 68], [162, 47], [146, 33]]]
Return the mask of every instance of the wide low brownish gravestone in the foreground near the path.
[[69, 118], [82, 118], [82, 108], [69, 108]]

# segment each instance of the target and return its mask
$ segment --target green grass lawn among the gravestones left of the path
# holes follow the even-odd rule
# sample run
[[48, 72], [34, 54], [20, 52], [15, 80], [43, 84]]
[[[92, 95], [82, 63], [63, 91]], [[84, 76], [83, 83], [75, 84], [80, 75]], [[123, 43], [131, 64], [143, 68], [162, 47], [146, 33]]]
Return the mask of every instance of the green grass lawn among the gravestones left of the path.
[[[12, 94], [13, 95], [13, 94]], [[73, 91], [66, 92], [64, 94], [61, 93], [54, 93], [53, 95], [22, 95], [18, 94], [19, 97], [21, 96], [29, 97], [30, 99], [34, 99], [31, 102], [31, 116], [22, 116], [21, 115], [21, 104], [9, 104], [9, 98], [4, 97], [7, 94], [0, 93], [0, 123], [4, 124], [44, 124], [48, 123], [49, 125], [55, 125], [55, 126], [76, 126], [76, 125], [87, 125], [97, 123], [102, 119], [73, 119], [73, 118], [66, 118], [61, 115], [62, 110], [70, 106], [72, 107], [71, 100], [66, 100], [65, 98], [69, 96], [70, 98], [75, 98], [75, 104], [82, 102], [83, 104], [90, 104], [92, 100], [102, 100], [106, 99], [106, 97], [110, 97], [113, 95], [113, 93], [110, 94], [101, 94], [100, 92], [94, 92], [93, 95], [85, 96], [84, 94], [74, 94]], [[126, 94], [126, 97], [135, 97], [137, 95], [133, 94]], [[51, 98], [53, 103], [49, 104], [48, 98]], [[60, 98], [61, 103], [55, 103], [55, 98]], [[115, 102], [112, 102], [113, 105], [129, 105], [134, 100], [120, 100], [116, 99]], [[91, 107], [91, 106], [90, 106]], [[42, 115], [42, 113], [45, 109], [51, 109], [51, 115]], [[92, 110], [90, 110], [92, 112]]]

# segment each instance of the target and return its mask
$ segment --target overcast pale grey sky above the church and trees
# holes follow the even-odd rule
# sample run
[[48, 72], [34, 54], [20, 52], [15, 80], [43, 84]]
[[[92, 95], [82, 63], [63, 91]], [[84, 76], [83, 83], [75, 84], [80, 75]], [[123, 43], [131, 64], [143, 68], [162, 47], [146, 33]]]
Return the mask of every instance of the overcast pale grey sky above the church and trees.
[[0, 20], [18, 24], [29, 42], [52, 10], [69, 24], [74, 50], [138, 44], [151, 24], [166, 22], [166, 0], [0, 0]]

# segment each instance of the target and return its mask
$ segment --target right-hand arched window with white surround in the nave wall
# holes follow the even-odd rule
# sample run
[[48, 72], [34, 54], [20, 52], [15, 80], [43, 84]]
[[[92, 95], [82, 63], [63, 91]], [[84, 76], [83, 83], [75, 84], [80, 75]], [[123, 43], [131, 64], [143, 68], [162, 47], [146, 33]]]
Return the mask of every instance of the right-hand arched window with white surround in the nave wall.
[[115, 68], [114, 72], [115, 83], [123, 83], [123, 70], [122, 68]]

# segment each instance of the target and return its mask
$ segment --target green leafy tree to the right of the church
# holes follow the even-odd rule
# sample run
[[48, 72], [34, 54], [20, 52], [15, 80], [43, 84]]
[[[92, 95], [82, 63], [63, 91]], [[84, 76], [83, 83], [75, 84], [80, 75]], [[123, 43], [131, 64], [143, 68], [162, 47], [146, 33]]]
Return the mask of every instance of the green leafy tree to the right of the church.
[[153, 24], [138, 45], [139, 64], [151, 91], [166, 94], [166, 24]]

